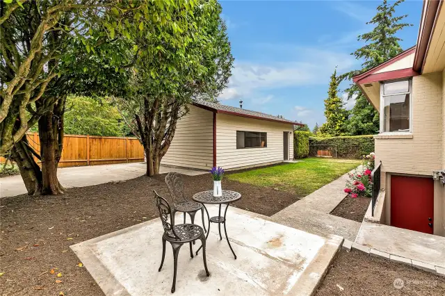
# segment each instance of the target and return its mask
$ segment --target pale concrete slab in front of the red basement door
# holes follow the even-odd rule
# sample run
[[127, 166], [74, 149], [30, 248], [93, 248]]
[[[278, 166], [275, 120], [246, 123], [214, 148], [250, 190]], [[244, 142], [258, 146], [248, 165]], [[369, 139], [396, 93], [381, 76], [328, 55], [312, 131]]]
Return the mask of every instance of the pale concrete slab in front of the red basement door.
[[391, 255], [445, 268], [445, 238], [363, 222], [355, 242]]

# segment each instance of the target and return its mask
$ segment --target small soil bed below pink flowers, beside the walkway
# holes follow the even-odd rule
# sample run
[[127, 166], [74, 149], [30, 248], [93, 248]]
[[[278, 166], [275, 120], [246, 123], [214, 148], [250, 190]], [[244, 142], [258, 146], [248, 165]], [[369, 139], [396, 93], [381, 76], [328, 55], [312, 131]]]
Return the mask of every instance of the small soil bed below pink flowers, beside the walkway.
[[334, 208], [331, 215], [363, 222], [364, 214], [366, 214], [370, 202], [371, 198], [369, 197], [352, 198], [347, 196]]

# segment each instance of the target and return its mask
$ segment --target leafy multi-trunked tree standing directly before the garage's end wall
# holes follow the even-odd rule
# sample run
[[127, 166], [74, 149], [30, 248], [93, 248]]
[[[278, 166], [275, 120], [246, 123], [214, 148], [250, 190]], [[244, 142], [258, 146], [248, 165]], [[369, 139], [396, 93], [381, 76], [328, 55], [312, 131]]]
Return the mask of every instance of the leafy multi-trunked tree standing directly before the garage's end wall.
[[[192, 99], [215, 101], [227, 85], [233, 58], [215, 0], [172, 7], [167, 28], [153, 27], [134, 39], [137, 51], [131, 94], [116, 101], [147, 156], [147, 175], [159, 174], [161, 158], [170, 147], [177, 120]], [[136, 23], [150, 22], [134, 15]], [[138, 49], [146, 49], [140, 52]]]

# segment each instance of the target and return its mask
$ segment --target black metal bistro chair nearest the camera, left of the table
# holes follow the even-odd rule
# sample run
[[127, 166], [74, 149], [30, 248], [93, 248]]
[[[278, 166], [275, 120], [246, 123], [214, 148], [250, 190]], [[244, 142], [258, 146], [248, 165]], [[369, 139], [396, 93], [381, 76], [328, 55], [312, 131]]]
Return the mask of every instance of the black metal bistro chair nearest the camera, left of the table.
[[[163, 199], [163, 197], [159, 196], [155, 190], [153, 190], [153, 193], [154, 193], [154, 198], [156, 199], [156, 206], [159, 210], [159, 217], [161, 218], [162, 227], [164, 229], [164, 233], [162, 236], [162, 260], [161, 260], [161, 266], [159, 266], [159, 272], [161, 271], [162, 265], [164, 263], [165, 242], [168, 241], [172, 245], [173, 249], [174, 271], [173, 271], [172, 293], [175, 293], [179, 249], [181, 249], [182, 245], [186, 244], [187, 242], [190, 245], [190, 256], [191, 258], [193, 258], [192, 242], [195, 242], [195, 240], [201, 240], [204, 268], [206, 270], [207, 277], [210, 276], [209, 270], [207, 269], [207, 261], [206, 261], [206, 236], [204, 235], [204, 230], [199, 225], [195, 224], [175, 225], [175, 214], [172, 213], [170, 204], [168, 204], [168, 202], [165, 199]], [[170, 215], [170, 222], [168, 221], [169, 215]]]

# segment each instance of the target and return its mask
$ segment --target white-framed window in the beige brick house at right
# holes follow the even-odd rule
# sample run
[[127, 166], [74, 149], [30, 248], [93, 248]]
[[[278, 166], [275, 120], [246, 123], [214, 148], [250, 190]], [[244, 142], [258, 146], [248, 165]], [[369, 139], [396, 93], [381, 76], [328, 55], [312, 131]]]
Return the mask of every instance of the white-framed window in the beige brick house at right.
[[382, 83], [380, 131], [410, 131], [411, 88], [410, 80]]

